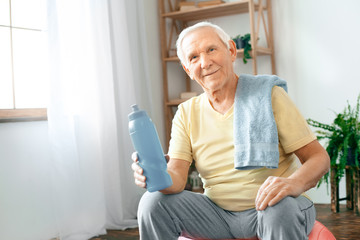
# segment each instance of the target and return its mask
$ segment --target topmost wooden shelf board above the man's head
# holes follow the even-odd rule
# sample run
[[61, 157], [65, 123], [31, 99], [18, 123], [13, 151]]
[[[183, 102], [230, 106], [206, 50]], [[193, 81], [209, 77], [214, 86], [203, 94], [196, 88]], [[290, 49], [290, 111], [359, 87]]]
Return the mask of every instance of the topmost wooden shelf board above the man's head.
[[[259, 6], [254, 4], [257, 10]], [[182, 21], [196, 21], [207, 18], [215, 18], [229, 16], [239, 13], [249, 12], [249, 0], [241, 0], [239, 2], [222, 3], [215, 6], [190, 9], [187, 11], [175, 11], [162, 14], [163, 18], [172, 18]]]

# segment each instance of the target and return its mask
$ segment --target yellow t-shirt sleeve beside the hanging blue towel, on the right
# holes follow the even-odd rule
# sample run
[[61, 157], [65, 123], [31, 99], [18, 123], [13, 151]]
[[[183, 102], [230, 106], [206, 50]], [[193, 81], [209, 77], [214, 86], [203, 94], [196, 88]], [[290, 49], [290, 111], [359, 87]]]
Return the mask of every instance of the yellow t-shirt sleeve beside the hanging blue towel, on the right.
[[275, 86], [271, 98], [279, 141], [286, 153], [294, 152], [316, 139], [283, 88]]

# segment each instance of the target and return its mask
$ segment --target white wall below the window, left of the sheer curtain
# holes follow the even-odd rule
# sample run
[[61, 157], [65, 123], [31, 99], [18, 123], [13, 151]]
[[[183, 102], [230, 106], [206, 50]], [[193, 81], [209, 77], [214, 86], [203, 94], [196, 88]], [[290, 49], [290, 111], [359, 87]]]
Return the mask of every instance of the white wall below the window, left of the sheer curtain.
[[0, 239], [56, 236], [47, 122], [0, 124]]

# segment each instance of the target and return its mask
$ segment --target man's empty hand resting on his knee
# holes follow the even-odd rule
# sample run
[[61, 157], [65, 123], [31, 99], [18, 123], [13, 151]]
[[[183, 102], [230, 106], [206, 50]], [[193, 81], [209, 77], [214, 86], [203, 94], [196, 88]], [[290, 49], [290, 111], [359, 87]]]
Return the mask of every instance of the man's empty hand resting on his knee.
[[265, 210], [286, 196], [298, 197], [304, 190], [300, 181], [283, 177], [268, 177], [261, 185], [255, 200], [256, 210]]

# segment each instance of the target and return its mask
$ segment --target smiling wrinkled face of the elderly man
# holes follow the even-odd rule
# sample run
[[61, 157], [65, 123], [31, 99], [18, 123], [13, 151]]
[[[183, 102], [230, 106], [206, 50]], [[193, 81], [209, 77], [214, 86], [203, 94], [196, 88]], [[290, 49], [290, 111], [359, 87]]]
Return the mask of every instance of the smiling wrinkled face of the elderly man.
[[182, 42], [184, 69], [205, 91], [221, 89], [234, 76], [235, 44], [227, 49], [217, 33], [203, 27], [189, 33]]

